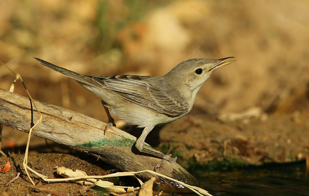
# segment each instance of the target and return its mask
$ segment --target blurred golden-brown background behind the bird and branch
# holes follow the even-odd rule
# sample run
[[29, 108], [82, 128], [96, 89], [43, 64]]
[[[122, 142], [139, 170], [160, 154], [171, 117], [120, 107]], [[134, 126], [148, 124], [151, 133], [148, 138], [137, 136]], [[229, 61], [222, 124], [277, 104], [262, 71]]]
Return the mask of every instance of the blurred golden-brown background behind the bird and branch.
[[[107, 122], [100, 98], [32, 57], [106, 76], [164, 75], [190, 58], [235, 56], [236, 62], [201, 87], [189, 115], [148, 142], [165, 152], [185, 148], [178, 155], [184, 167], [186, 160], [218, 157], [285, 162], [308, 152], [306, 0], [1, 0], [0, 5], [0, 60], [21, 74], [36, 100]], [[14, 79], [0, 67], [1, 88], [8, 90]], [[26, 96], [20, 82], [15, 93]], [[124, 125], [117, 118], [116, 124]], [[14, 131], [4, 128], [4, 147], [26, 143], [27, 135]], [[44, 143], [32, 144], [36, 141]]]

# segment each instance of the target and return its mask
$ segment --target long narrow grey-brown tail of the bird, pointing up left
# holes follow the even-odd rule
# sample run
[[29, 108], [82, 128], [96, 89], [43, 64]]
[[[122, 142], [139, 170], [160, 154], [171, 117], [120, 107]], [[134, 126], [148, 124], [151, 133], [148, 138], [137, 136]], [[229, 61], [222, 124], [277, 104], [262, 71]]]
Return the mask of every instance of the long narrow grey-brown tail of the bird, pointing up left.
[[[33, 57], [35, 58], [35, 57]], [[87, 83], [87, 84], [93, 84], [93, 81], [92, 81], [92, 77], [91, 76], [86, 76], [86, 75], [83, 75], [83, 74], [79, 74], [79, 73], [76, 73], [76, 72], [73, 72], [71, 70], [68, 70], [68, 69], [64, 69], [62, 67], [59, 67], [57, 65], [54, 65], [52, 63], [49, 63], [45, 60], [42, 60], [42, 59], [39, 59], [39, 58], [35, 58], [37, 61], [39, 61], [39, 63], [41, 65], [44, 65], [46, 67], [49, 67], [50, 69], [54, 69], [60, 73], [63, 73], [64, 75], [67, 75], [73, 79], [75, 79], [76, 81], [79, 81], [79, 82], [82, 82], [82, 83]]]

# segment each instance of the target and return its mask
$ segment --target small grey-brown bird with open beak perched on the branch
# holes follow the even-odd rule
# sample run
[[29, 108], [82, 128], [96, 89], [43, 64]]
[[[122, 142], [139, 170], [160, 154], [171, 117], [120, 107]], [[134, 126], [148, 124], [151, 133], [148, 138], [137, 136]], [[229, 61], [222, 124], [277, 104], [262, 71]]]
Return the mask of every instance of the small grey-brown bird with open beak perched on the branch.
[[188, 59], [163, 76], [109, 75], [104, 77], [83, 75], [45, 60], [35, 59], [41, 65], [73, 78], [85, 89], [101, 98], [108, 117], [104, 135], [109, 127], [116, 126], [111, 114], [128, 124], [144, 128], [135, 142], [135, 147], [140, 152], [161, 158], [155, 166], [156, 170], [167, 161], [175, 162], [177, 157], [144, 148], [148, 133], [155, 126], [172, 122], [188, 114], [204, 82], [215, 70], [234, 62], [235, 60], [231, 60], [234, 58]]

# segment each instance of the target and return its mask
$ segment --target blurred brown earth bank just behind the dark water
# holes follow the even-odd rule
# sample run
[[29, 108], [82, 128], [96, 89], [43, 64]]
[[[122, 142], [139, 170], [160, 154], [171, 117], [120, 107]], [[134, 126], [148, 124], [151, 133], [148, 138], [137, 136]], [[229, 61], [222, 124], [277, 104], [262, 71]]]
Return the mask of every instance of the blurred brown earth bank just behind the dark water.
[[169, 143], [184, 167], [224, 158], [254, 165], [298, 161], [308, 153], [308, 117], [308, 112], [276, 113], [225, 123], [211, 116], [188, 115], [162, 128], [161, 145]]

